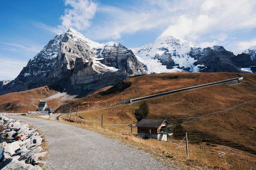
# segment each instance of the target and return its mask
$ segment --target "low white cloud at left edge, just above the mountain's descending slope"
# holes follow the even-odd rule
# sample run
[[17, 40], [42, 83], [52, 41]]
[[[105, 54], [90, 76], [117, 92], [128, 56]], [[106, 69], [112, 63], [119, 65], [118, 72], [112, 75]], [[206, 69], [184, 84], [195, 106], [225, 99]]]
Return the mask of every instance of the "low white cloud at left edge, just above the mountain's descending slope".
[[20, 71], [27, 65], [27, 61], [14, 60], [1, 56], [0, 80], [13, 80], [18, 76]]

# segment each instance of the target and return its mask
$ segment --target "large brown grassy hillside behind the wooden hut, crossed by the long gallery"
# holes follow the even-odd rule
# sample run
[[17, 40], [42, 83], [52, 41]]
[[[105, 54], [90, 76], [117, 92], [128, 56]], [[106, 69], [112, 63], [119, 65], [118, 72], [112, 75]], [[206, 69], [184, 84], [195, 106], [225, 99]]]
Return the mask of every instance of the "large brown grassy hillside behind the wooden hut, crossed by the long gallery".
[[[216, 85], [194, 89], [154, 99], [126, 104], [79, 115], [88, 120], [108, 123], [136, 123], [141, 118], [168, 119], [175, 125], [175, 138], [185, 131], [190, 140], [222, 144], [250, 153], [256, 153], [256, 75], [237, 73], [163, 73], [133, 77], [111, 87], [98, 90], [82, 99], [61, 106], [66, 112], [70, 106], [80, 111], [115, 105], [115, 102], [201, 85], [238, 76], [244, 80], [236, 85]], [[250, 101], [248, 103], [245, 103]], [[245, 103], [237, 108], [224, 111]], [[224, 111], [214, 113], [218, 111]], [[209, 115], [208, 115], [209, 114]], [[206, 115], [206, 116], [204, 116]], [[203, 116], [201, 118], [189, 118]], [[185, 118], [185, 119], [184, 119]]]

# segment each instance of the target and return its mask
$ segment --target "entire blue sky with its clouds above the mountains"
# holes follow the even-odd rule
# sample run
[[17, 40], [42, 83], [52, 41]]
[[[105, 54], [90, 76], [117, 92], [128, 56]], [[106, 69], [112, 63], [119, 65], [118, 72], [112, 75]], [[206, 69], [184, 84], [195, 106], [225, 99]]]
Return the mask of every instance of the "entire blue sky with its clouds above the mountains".
[[253, 0], [46, 0], [0, 6], [0, 80], [14, 79], [50, 39], [72, 27], [97, 42], [140, 47], [174, 36], [201, 47], [242, 50], [256, 45]]

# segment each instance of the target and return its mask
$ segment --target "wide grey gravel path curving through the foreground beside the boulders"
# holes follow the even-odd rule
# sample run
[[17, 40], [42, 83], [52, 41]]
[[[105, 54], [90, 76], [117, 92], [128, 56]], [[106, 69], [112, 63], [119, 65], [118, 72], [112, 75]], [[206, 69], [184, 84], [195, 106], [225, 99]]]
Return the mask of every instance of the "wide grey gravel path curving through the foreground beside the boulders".
[[68, 124], [24, 116], [10, 116], [39, 128], [49, 145], [50, 170], [173, 169], [149, 153]]

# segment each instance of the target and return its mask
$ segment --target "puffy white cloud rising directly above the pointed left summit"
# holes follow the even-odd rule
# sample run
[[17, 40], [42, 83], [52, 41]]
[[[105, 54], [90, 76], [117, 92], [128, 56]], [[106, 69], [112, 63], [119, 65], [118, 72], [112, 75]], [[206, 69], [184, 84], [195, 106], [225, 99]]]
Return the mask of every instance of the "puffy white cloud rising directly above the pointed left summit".
[[94, 18], [96, 3], [90, 0], [66, 0], [65, 5], [71, 8], [65, 9], [65, 14], [60, 17], [62, 23], [58, 29], [66, 30], [73, 27], [77, 30], [85, 30], [91, 25], [90, 19]]

